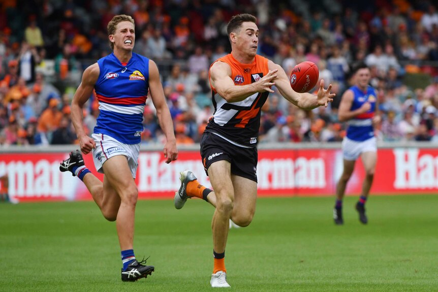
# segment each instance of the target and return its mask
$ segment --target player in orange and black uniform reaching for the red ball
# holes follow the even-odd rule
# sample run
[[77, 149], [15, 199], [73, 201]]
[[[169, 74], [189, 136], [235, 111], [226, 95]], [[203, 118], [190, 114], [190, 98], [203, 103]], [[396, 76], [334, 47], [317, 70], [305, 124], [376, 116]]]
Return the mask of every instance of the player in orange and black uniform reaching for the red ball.
[[210, 67], [214, 115], [201, 139], [201, 157], [214, 191], [199, 184], [190, 171], [181, 172], [181, 187], [175, 193], [175, 207], [187, 198], [198, 197], [213, 205], [212, 220], [214, 268], [212, 287], [230, 287], [226, 280], [225, 246], [229, 219], [239, 226], [251, 223], [257, 198], [257, 138], [260, 110], [274, 92], [301, 109], [326, 106], [333, 101], [331, 85], [318, 95], [297, 93], [285, 71], [257, 55], [259, 28], [256, 18], [239, 14], [227, 26], [231, 54], [217, 59]]

